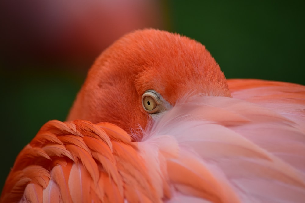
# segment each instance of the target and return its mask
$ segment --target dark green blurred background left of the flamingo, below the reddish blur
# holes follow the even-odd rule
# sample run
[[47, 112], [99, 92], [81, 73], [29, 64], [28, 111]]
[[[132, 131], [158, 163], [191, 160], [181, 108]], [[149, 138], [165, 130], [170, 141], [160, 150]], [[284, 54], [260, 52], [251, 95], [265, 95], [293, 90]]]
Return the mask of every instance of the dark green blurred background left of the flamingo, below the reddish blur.
[[1, 190], [20, 150], [47, 121], [65, 120], [81, 86], [74, 74], [43, 68], [1, 70]]

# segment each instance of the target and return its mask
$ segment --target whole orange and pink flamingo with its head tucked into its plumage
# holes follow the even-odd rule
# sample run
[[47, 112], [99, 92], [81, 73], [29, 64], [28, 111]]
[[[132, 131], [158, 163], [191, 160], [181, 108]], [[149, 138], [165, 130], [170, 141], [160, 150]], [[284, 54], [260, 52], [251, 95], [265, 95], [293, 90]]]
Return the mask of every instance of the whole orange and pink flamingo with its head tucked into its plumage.
[[17, 156], [0, 202], [304, 202], [305, 86], [226, 79], [163, 30], [115, 41], [66, 121]]

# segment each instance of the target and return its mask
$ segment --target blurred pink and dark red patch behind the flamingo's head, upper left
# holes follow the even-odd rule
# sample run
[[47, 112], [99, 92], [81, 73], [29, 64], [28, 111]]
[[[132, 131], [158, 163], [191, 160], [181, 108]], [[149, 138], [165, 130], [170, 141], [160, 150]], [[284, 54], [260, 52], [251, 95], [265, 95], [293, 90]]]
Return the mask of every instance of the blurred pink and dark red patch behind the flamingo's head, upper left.
[[3, 61], [87, 65], [125, 33], [164, 26], [157, 0], [4, 0], [0, 6]]

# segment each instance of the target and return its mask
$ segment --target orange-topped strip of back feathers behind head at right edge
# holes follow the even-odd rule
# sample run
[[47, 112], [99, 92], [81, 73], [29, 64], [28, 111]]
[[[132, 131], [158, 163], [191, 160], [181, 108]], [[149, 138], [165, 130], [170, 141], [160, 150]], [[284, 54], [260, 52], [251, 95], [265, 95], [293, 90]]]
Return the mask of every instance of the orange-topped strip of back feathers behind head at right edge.
[[281, 114], [305, 131], [305, 86], [259, 79], [228, 79], [234, 98], [259, 104]]

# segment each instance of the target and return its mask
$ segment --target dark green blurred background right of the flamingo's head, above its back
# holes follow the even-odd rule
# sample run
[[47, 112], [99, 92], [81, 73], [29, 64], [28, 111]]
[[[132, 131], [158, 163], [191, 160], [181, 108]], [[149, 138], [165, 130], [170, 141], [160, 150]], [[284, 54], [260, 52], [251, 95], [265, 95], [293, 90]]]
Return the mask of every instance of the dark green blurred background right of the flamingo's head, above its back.
[[200, 41], [227, 78], [305, 84], [304, 1], [169, 1], [173, 31]]

